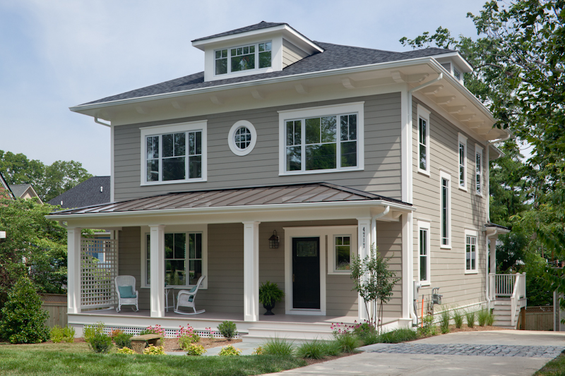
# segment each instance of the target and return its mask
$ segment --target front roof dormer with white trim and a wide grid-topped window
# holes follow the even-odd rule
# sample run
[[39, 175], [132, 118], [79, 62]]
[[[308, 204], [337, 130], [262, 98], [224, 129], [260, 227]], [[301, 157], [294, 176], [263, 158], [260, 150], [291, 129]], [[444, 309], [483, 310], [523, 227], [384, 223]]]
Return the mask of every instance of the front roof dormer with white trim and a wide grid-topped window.
[[205, 81], [282, 71], [323, 51], [287, 23], [265, 21], [199, 38], [192, 45], [204, 51]]

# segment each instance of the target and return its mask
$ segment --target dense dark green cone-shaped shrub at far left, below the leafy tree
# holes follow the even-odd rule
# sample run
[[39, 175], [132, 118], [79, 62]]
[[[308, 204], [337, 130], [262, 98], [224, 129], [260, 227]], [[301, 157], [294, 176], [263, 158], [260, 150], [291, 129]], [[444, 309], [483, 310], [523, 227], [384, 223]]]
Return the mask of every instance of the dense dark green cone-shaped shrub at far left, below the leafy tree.
[[21, 277], [8, 293], [1, 310], [0, 338], [12, 344], [38, 344], [49, 339], [45, 320], [49, 313], [41, 309], [41, 298], [29, 278]]

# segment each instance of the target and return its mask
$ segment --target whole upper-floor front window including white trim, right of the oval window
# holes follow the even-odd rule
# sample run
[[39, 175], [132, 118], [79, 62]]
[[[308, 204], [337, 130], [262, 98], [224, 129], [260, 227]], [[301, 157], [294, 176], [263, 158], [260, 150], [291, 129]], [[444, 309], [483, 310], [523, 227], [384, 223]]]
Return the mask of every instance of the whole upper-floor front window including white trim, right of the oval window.
[[364, 168], [363, 102], [279, 111], [280, 175]]

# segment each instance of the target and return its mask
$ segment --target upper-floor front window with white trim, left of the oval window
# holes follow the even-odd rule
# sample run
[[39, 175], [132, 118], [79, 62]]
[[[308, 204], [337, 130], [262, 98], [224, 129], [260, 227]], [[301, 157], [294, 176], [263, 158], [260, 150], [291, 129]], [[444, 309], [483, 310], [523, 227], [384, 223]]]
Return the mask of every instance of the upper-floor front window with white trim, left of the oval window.
[[206, 121], [141, 128], [141, 185], [206, 181]]

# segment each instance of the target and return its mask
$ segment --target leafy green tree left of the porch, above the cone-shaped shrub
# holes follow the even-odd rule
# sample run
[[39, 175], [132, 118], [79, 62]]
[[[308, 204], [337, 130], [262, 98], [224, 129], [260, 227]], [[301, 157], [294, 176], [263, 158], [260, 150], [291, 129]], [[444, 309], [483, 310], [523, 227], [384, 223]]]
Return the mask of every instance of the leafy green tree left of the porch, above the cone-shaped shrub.
[[66, 230], [44, 216], [57, 209], [37, 200], [0, 200], [0, 307], [26, 274], [43, 293], [63, 293], [66, 284]]

